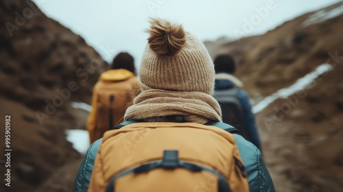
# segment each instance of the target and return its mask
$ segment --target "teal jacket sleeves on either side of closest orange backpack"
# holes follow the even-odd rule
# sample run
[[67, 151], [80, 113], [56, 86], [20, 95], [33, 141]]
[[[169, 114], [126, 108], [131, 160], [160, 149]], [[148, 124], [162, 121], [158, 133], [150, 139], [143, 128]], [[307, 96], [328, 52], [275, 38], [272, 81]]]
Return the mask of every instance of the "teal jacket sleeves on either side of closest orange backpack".
[[[265, 163], [259, 149], [257, 149], [254, 144], [246, 141], [246, 139], [239, 134], [233, 134], [233, 136], [235, 136], [239, 154], [241, 155], [241, 159], [246, 167], [250, 191], [275, 191], [272, 178], [270, 177], [267, 167], [265, 167]], [[97, 149], [99, 149], [101, 143], [102, 139], [99, 139], [88, 148], [86, 156], [84, 156], [84, 160], [82, 161], [78, 174], [76, 175], [73, 192], [83, 192], [88, 190], [95, 156], [97, 155]]]

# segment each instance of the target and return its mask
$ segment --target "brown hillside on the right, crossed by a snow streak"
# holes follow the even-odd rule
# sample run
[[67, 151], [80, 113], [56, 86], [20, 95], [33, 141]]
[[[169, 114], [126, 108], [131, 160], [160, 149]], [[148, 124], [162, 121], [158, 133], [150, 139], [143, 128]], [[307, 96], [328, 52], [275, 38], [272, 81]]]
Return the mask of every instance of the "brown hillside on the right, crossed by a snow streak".
[[257, 113], [263, 152], [276, 191], [343, 188], [343, 3], [310, 12], [261, 36], [206, 46], [213, 58], [230, 53], [237, 76], [258, 103], [294, 84], [318, 65], [331, 64], [311, 86]]

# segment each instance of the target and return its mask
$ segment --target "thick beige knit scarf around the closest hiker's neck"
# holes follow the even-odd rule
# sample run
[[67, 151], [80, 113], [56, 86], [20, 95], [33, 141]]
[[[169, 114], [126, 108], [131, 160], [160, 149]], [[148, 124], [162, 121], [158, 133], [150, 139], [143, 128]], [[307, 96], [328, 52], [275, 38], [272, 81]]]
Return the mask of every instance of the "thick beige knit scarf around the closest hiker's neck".
[[134, 99], [126, 110], [125, 121], [180, 115], [185, 121], [204, 124], [209, 120], [222, 121], [217, 101], [206, 93], [196, 91], [165, 91], [150, 89]]

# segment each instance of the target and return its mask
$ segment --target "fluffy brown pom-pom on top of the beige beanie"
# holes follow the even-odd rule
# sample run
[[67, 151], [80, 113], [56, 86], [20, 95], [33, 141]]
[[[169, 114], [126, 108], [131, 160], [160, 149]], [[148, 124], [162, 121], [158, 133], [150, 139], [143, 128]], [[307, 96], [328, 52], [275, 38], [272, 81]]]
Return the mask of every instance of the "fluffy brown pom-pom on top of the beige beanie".
[[185, 45], [185, 31], [182, 25], [171, 25], [163, 19], [150, 19], [150, 33], [147, 42], [158, 56], [174, 56]]

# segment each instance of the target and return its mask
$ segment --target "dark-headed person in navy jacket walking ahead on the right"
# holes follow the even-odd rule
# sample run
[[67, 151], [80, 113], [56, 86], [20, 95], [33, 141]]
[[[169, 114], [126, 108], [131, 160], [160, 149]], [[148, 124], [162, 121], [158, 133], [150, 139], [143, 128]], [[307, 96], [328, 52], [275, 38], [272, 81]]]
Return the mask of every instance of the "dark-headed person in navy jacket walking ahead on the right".
[[239, 134], [262, 151], [248, 94], [241, 89], [243, 87], [241, 81], [233, 75], [236, 69], [234, 58], [230, 55], [220, 55], [215, 58], [214, 64], [213, 97], [220, 103], [224, 123], [233, 125], [239, 130]]

